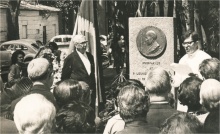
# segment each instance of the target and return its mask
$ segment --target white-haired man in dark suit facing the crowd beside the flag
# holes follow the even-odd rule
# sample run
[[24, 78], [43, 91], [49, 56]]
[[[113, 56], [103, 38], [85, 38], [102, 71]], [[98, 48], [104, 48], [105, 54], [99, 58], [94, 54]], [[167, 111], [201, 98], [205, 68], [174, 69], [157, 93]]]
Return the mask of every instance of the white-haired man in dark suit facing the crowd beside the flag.
[[94, 59], [89, 52], [86, 52], [88, 41], [85, 36], [75, 35], [72, 41], [75, 49], [64, 60], [61, 80], [75, 79], [87, 83], [92, 90], [91, 103], [93, 105], [95, 104]]

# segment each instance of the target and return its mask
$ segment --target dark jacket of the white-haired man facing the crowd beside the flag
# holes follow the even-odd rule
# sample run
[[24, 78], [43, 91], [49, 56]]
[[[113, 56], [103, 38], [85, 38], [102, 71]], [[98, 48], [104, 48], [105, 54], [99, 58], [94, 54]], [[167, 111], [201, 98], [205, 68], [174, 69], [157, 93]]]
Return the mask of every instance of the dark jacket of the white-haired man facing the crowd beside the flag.
[[61, 80], [75, 79], [78, 81], [86, 82], [87, 84], [89, 84], [90, 88], [94, 86], [94, 59], [90, 53], [86, 52], [86, 54], [91, 64], [91, 74], [89, 75], [87, 73], [81, 58], [79, 57], [78, 53], [74, 51], [64, 60]]

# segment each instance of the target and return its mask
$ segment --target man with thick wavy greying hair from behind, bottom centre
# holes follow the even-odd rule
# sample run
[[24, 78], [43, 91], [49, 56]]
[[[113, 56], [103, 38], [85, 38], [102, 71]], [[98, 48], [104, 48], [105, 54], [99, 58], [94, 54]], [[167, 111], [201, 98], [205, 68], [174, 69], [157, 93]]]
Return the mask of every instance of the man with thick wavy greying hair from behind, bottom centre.
[[118, 94], [119, 113], [125, 128], [117, 134], [159, 133], [159, 128], [145, 121], [150, 106], [149, 94], [139, 85], [125, 85]]

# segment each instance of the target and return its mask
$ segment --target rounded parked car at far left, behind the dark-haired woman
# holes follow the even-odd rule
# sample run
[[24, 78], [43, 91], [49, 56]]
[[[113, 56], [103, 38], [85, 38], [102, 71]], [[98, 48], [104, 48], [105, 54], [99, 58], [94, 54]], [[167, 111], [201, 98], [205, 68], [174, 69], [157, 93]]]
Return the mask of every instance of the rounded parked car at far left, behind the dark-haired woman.
[[1, 76], [8, 74], [13, 52], [22, 50], [25, 53], [24, 62], [29, 62], [35, 57], [42, 45], [40, 41], [35, 39], [19, 39], [2, 43], [0, 45]]

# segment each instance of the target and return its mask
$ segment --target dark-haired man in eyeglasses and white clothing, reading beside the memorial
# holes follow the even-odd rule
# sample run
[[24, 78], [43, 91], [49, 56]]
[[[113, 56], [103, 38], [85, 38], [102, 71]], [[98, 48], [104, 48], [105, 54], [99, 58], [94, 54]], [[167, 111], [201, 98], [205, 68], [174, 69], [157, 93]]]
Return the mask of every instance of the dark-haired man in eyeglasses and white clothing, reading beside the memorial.
[[198, 33], [187, 31], [183, 38], [184, 42], [182, 46], [184, 47], [186, 54], [180, 59], [179, 64], [188, 65], [191, 68], [192, 73], [197, 74], [202, 78], [199, 73], [199, 64], [202, 63], [203, 60], [211, 58], [211, 56], [198, 49]]

